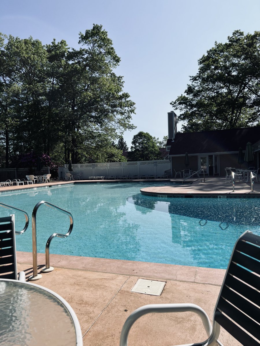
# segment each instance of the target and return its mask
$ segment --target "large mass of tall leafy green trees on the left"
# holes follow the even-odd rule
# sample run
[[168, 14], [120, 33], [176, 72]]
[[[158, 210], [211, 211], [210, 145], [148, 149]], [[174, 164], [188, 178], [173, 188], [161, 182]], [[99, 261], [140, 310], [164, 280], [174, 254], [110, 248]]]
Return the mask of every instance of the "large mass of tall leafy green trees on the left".
[[114, 72], [120, 58], [102, 25], [80, 33], [79, 44], [0, 34], [0, 145], [7, 167], [30, 152], [72, 163], [120, 157], [114, 141], [135, 128], [135, 103]]

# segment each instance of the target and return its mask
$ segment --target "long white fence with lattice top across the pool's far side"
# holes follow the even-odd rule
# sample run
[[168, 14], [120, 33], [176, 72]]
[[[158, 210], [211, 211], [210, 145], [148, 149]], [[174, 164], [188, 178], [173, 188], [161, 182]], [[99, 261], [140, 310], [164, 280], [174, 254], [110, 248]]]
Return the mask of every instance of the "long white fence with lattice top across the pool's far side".
[[[72, 174], [80, 174], [82, 179], [90, 176], [161, 176], [171, 169], [170, 160], [157, 161], [128, 161], [128, 162], [104, 162], [104, 163], [80, 163], [72, 164]], [[68, 165], [59, 167], [59, 179], [66, 177]]]

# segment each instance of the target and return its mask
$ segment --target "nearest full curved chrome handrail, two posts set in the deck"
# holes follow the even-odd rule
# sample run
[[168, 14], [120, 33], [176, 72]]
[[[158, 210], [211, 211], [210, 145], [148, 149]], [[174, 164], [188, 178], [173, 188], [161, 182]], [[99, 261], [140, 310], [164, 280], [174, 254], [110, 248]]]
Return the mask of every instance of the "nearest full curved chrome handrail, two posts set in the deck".
[[46, 201], [40, 201], [36, 204], [36, 206], [33, 208], [33, 213], [32, 213], [32, 238], [33, 238], [33, 275], [29, 277], [29, 280], [34, 281], [34, 280], [39, 280], [41, 279], [42, 275], [38, 274], [38, 265], [37, 265], [37, 233], [36, 233], [36, 213], [38, 208], [42, 205], [46, 204], [46, 206], [53, 208], [55, 210], [58, 210], [64, 214], [67, 214], [70, 218], [70, 227], [69, 230], [66, 234], [61, 234], [61, 233], [53, 233], [49, 239], [47, 240], [46, 246], [45, 246], [45, 268], [42, 269], [42, 272], [51, 272], [53, 271], [53, 267], [50, 267], [50, 244], [51, 240], [55, 237], [59, 238], [67, 238], [73, 228], [73, 217], [71, 213], [67, 210], [61, 209], [57, 206], [55, 206], [52, 203], [46, 202]]

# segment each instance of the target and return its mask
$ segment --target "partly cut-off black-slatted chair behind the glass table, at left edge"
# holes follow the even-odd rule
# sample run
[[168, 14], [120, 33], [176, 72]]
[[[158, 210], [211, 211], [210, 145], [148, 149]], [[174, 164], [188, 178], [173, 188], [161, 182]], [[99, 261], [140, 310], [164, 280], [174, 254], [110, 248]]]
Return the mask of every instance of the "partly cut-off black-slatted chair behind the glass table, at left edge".
[[[15, 216], [0, 218], [0, 280], [17, 280]], [[18, 280], [25, 281], [25, 273], [20, 272]]]

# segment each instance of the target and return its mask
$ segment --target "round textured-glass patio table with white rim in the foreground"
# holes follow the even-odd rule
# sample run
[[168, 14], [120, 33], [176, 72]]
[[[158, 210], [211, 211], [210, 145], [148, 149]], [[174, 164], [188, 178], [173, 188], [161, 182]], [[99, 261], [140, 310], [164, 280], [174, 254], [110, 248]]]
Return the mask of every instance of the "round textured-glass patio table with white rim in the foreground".
[[57, 293], [28, 282], [0, 280], [0, 345], [82, 346], [78, 318]]

